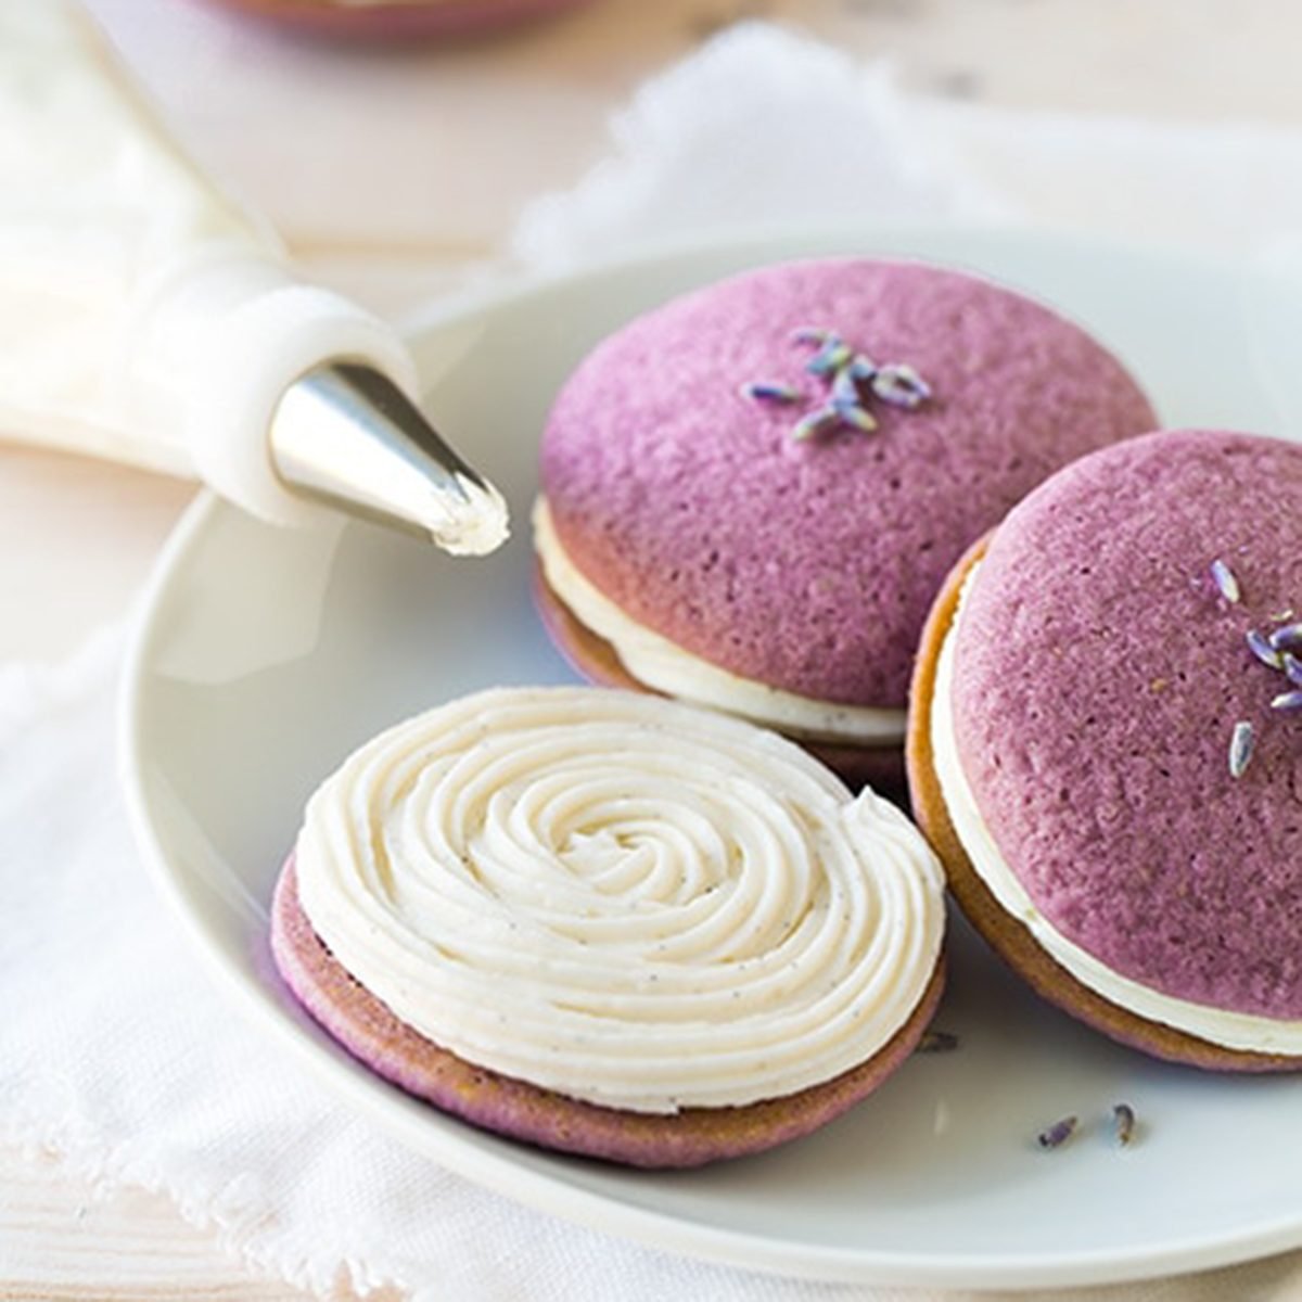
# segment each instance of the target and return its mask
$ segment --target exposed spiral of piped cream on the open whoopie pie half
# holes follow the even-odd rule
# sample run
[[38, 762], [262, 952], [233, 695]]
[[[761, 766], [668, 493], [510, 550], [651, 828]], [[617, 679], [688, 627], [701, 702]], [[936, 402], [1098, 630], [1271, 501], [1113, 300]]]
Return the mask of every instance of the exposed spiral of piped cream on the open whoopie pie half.
[[829, 1081], [909, 1019], [943, 874], [772, 733], [505, 687], [381, 733], [311, 797], [298, 892], [342, 966], [466, 1061], [638, 1112]]

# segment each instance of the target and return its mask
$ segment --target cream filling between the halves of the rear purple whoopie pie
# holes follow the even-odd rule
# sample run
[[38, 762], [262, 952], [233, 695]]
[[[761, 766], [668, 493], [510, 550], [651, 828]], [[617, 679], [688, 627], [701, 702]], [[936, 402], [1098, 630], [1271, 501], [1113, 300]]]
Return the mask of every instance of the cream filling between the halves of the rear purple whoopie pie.
[[702, 660], [629, 618], [565, 553], [546, 497], [534, 505], [534, 546], [551, 590], [581, 624], [615, 647], [638, 682], [811, 741], [885, 747], [904, 740], [904, 710], [840, 704], [769, 687]]

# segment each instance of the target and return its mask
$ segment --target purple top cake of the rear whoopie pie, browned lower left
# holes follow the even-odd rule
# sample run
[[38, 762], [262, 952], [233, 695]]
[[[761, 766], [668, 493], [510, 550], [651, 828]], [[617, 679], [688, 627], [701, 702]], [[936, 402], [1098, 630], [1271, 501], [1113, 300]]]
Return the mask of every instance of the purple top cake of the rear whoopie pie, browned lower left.
[[[802, 331], [835, 333], [841, 365]], [[1059, 466], [1155, 424], [1104, 349], [1019, 294], [788, 263], [605, 340], [555, 404], [542, 478], [565, 551], [631, 618], [743, 677], [902, 707], [963, 548]]]

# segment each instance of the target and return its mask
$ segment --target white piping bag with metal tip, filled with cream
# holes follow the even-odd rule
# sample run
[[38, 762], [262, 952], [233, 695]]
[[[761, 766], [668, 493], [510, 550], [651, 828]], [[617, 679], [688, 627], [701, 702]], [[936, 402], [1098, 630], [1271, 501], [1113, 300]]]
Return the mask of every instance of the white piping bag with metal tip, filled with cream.
[[458, 555], [505, 539], [396, 331], [297, 275], [65, 0], [0, 5], [0, 177], [4, 436], [198, 478], [277, 525], [326, 501]]

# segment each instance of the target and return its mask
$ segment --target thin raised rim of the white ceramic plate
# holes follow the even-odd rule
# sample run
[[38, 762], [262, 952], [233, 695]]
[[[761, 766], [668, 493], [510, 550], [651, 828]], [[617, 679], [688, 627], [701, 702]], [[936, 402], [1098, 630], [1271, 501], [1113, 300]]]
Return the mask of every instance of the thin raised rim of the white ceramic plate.
[[[870, 225], [845, 228], [802, 228], [724, 236], [712, 232], [704, 238], [671, 240], [642, 245], [634, 253], [612, 255], [600, 260], [560, 271], [519, 277], [504, 277], [471, 286], [461, 293], [437, 299], [406, 314], [401, 322], [404, 335], [415, 337], [448, 328], [464, 319], [492, 311], [506, 303], [518, 303], [555, 292], [561, 286], [611, 275], [637, 273], [658, 264], [678, 263], [711, 255], [741, 255], [747, 262], [766, 258], [814, 256], [824, 245], [844, 243], [846, 253], [879, 255], [892, 245], [926, 242], [930, 238], [975, 245], [1017, 241], [1035, 243], [1048, 250], [1086, 251], [1100, 258], [1141, 258], [1168, 266], [1195, 267], [1207, 273], [1233, 273], [1234, 263], [1186, 250], [1147, 249], [1142, 245], [1095, 240], [1047, 230], [1023, 230], [1014, 227], [962, 225], [950, 223], [902, 225]], [[926, 258], [919, 253], [915, 256]], [[935, 255], [934, 255], [935, 256]], [[1113, 1284], [1130, 1280], [1180, 1275], [1211, 1267], [1224, 1267], [1302, 1246], [1302, 1210], [1281, 1213], [1273, 1220], [1256, 1223], [1221, 1238], [1198, 1242], [1167, 1241], [1155, 1246], [1122, 1250], [1005, 1253], [1001, 1256], [971, 1253], [948, 1253], [941, 1256], [919, 1255], [881, 1249], [793, 1243], [771, 1240], [754, 1232], [707, 1225], [656, 1208], [611, 1198], [582, 1185], [565, 1182], [521, 1163], [512, 1155], [497, 1154], [477, 1146], [473, 1135], [441, 1113], [432, 1117], [415, 1115], [414, 1108], [379, 1105], [376, 1086], [392, 1090], [379, 1078], [361, 1077], [348, 1069], [327, 1046], [305, 1035], [285, 1009], [277, 1008], [267, 993], [255, 988], [249, 974], [238, 970], [223, 950], [217, 937], [203, 923], [189, 897], [182, 870], [172, 866], [164, 838], [150, 814], [145, 769], [147, 755], [142, 728], [146, 708], [146, 680], [151, 652], [163, 637], [161, 615], [174, 575], [206, 544], [212, 521], [237, 508], [227, 504], [211, 490], [203, 488], [185, 509], [168, 535], [151, 566], [150, 575], [133, 612], [132, 626], [117, 695], [117, 759], [129, 822], [135, 845], [142, 853], [155, 889], [167, 901], [174, 919], [199, 953], [202, 966], [215, 984], [229, 992], [237, 1006], [245, 1009], [254, 1025], [264, 1027], [268, 1038], [285, 1046], [323, 1083], [336, 1099], [358, 1108], [365, 1116], [396, 1141], [428, 1160], [448, 1167], [457, 1174], [534, 1210], [622, 1238], [659, 1249], [677, 1251], [724, 1266], [760, 1271], [768, 1275], [829, 1282], [879, 1285], [913, 1285], [939, 1288], [1042, 1288]], [[410, 1100], [408, 1100], [410, 1101]], [[431, 1126], [430, 1122], [437, 1122]], [[436, 1137], [431, 1139], [431, 1137]], [[564, 1211], [557, 1212], [556, 1194], [564, 1191]]]

